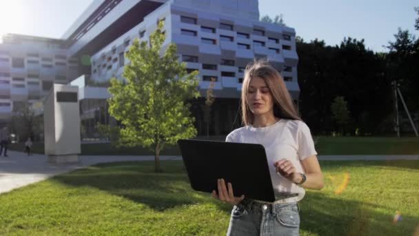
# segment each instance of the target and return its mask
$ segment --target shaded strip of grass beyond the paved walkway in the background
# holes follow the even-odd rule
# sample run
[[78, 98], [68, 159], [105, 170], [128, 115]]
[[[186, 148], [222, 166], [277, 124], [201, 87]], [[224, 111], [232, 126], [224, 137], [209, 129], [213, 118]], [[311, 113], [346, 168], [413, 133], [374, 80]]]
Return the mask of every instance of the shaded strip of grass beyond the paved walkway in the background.
[[[224, 137], [216, 137], [224, 140]], [[314, 137], [319, 155], [419, 155], [416, 137]], [[11, 150], [24, 150], [23, 144], [10, 144]], [[34, 153], [44, 153], [43, 144], [35, 143]], [[153, 155], [145, 148], [114, 148], [110, 144], [82, 144], [82, 155]], [[161, 155], [181, 155], [178, 146], [166, 145]]]

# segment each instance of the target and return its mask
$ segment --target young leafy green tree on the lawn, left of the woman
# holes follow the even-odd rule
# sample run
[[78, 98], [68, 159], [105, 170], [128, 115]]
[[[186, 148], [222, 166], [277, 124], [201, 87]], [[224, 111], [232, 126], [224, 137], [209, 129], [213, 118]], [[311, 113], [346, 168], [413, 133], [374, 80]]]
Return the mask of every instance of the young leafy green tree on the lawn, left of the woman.
[[[198, 71], [187, 74], [176, 46], [163, 53], [163, 21], [147, 41], [136, 39], [125, 57], [122, 77], [111, 79], [109, 112], [121, 121], [119, 146], [143, 146], [154, 152], [155, 170], [161, 171], [159, 155], [165, 144], [196, 136], [187, 99], [197, 98]], [[162, 56], [163, 55], [163, 56]]]

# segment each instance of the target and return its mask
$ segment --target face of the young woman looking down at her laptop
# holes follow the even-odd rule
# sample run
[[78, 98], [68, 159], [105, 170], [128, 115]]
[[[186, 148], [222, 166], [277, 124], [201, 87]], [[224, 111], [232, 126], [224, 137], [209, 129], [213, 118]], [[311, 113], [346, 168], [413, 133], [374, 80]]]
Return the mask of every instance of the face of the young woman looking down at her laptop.
[[274, 101], [271, 90], [260, 77], [250, 79], [247, 90], [247, 104], [254, 115], [274, 115]]

